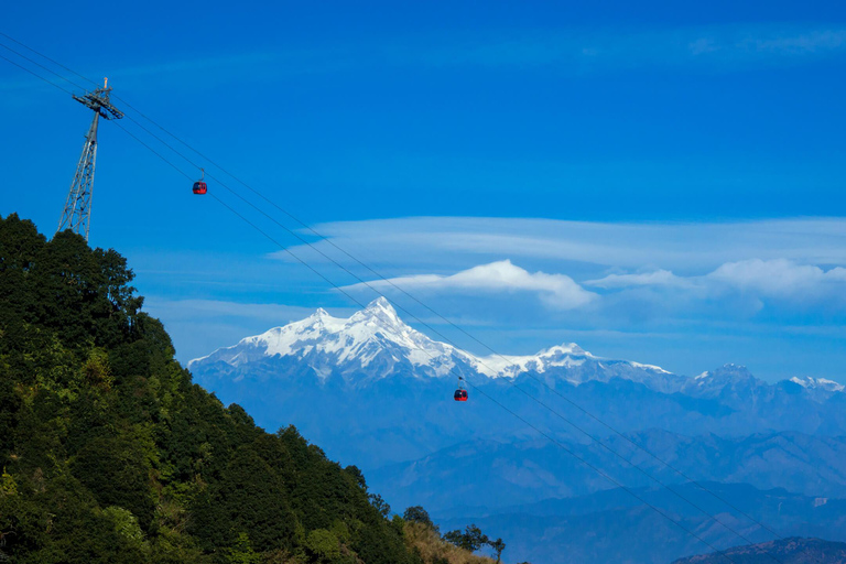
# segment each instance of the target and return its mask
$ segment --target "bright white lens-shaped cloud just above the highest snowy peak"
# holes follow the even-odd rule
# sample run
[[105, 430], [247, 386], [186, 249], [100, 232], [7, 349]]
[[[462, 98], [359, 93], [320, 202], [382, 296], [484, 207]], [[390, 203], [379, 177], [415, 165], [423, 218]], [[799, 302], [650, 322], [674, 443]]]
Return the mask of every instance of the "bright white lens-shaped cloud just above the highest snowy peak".
[[567, 275], [545, 272], [532, 273], [512, 264], [510, 260], [480, 264], [451, 275], [398, 276], [377, 280], [367, 284], [354, 284], [345, 288], [345, 290], [365, 288], [391, 290], [394, 286], [405, 291], [425, 290], [431, 292], [532, 292], [536, 293], [545, 304], [558, 310], [582, 307], [597, 297], [596, 294], [583, 289]]

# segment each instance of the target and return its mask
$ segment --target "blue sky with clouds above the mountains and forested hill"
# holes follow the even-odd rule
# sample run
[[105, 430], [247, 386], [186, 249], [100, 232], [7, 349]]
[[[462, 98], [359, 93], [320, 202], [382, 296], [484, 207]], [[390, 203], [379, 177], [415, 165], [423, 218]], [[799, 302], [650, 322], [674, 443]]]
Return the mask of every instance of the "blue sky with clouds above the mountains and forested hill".
[[[19, 2], [0, 31], [109, 76], [499, 352], [576, 341], [681, 373], [846, 381], [839, 2]], [[89, 116], [0, 61], [0, 214], [51, 234]], [[486, 352], [392, 286], [356, 285], [375, 276], [189, 156], [349, 269], [209, 183], [356, 301], [384, 293]], [[91, 242], [129, 257], [184, 360], [358, 307], [112, 123]]]

